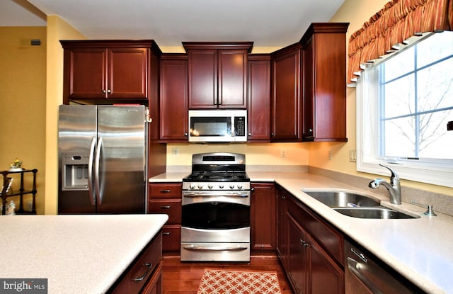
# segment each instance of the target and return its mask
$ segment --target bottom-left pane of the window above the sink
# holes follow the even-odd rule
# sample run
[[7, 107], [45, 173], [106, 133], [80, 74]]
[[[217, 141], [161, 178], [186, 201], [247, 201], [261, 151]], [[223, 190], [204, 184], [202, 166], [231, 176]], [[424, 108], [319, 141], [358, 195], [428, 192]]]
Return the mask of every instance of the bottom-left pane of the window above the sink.
[[386, 120], [384, 123], [384, 148], [386, 157], [415, 157], [413, 116]]

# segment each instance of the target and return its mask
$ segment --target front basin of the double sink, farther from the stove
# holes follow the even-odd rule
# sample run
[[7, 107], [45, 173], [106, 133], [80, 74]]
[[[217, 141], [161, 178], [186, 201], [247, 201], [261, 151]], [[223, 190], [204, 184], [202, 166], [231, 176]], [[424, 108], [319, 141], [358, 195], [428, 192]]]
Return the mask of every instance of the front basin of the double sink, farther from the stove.
[[408, 215], [390, 208], [333, 208], [338, 213], [358, 218], [383, 218], [383, 219], [401, 219], [401, 218], [418, 218], [418, 215]]

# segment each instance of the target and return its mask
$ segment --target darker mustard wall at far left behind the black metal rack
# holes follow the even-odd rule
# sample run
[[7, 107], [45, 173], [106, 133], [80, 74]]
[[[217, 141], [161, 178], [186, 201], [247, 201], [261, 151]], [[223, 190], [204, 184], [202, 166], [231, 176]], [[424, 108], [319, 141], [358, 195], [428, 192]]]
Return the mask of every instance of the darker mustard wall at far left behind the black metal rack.
[[[40, 39], [41, 45], [31, 46], [31, 39]], [[38, 169], [38, 214], [44, 213], [45, 203], [46, 43], [45, 27], [0, 27], [0, 170], [16, 158], [25, 169]], [[20, 176], [13, 178], [11, 188], [18, 191]], [[24, 177], [25, 188], [32, 188], [32, 179], [32, 174]], [[10, 199], [17, 208], [18, 197]]]

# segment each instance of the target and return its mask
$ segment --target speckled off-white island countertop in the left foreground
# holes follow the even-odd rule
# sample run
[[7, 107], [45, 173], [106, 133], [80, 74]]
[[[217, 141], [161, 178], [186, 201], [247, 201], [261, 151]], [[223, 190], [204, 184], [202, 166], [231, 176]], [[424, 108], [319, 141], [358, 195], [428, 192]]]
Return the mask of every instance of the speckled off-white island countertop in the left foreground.
[[1, 278], [47, 278], [49, 294], [105, 293], [167, 215], [0, 217]]

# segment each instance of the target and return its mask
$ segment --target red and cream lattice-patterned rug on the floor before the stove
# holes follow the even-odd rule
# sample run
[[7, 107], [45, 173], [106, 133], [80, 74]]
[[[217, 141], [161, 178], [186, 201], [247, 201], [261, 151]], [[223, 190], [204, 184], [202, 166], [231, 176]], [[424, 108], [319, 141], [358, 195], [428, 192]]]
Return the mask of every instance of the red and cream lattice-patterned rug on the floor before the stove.
[[197, 294], [281, 294], [275, 271], [205, 268]]

